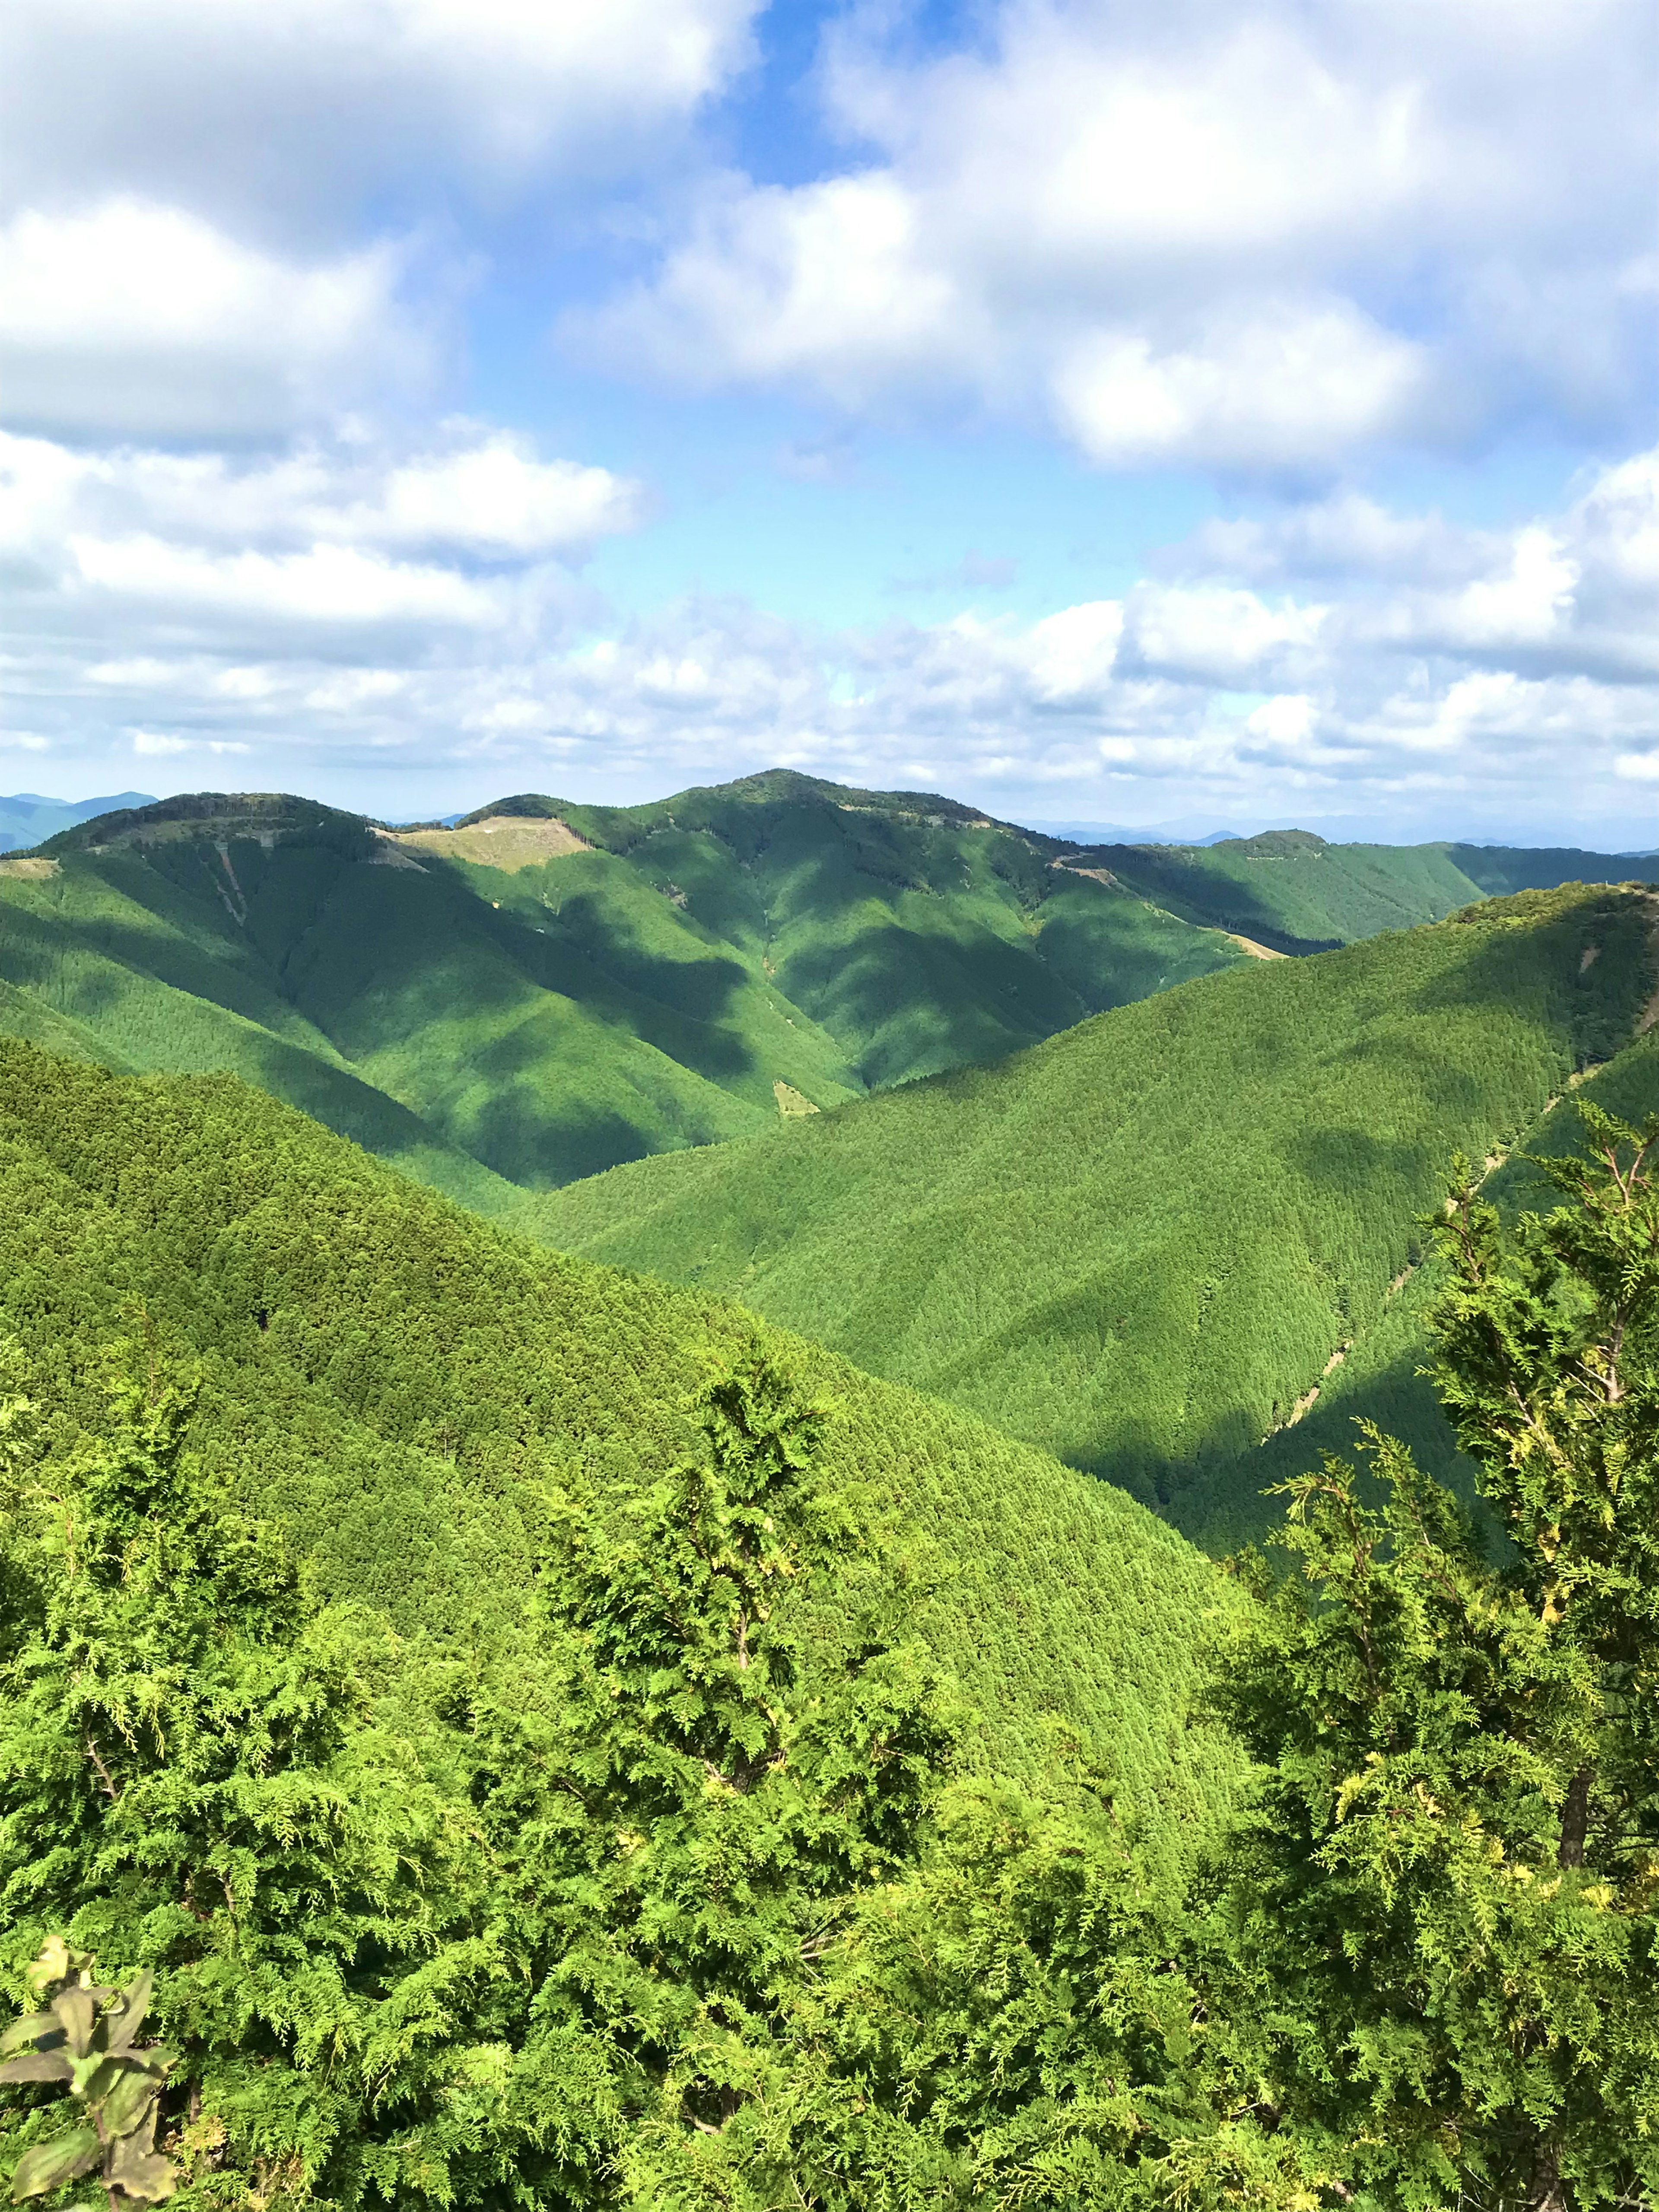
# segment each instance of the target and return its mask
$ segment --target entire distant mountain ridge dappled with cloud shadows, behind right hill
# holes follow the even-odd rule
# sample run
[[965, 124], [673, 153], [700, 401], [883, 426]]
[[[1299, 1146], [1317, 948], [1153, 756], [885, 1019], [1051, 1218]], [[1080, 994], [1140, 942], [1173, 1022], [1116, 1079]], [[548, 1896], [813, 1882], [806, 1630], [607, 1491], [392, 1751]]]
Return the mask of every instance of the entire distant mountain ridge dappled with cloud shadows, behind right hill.
[[1307, 832], [1082, 845], [787, 770], [398, 830], [294, 794], [122, 796], [0, 860], [0, 1029], [232, 1068], [482, 1208], [1630, 865]]

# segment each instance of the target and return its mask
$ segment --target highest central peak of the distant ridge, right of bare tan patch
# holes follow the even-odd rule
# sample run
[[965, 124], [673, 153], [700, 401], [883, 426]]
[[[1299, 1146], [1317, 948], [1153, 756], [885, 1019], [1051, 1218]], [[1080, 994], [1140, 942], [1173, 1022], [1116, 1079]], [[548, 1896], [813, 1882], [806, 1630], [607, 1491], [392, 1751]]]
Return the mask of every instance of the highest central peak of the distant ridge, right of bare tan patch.
[[774, 770], [641, 807], [529, 794], [482, 812], [557, 816], [626, 863], [759, 962], [869, 1086], [993, 1060], [1248, 958], [1221, 929], [1057, 865], [1051, 838], [929, 792]]

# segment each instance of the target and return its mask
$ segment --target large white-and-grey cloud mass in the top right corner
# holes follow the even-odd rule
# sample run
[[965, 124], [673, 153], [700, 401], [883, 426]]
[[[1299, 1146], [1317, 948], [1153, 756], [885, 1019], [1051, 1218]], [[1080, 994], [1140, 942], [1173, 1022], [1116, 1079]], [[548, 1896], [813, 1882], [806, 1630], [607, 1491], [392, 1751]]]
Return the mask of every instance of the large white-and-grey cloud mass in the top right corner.
[[858, 159], [721, 179], [580, 343], [847, 409], [953, 392], [1113, 467], [1641, 405], [1644, 0], [1002, 0], [984, 51], [925, 60], [869, 24], [825, 77]]

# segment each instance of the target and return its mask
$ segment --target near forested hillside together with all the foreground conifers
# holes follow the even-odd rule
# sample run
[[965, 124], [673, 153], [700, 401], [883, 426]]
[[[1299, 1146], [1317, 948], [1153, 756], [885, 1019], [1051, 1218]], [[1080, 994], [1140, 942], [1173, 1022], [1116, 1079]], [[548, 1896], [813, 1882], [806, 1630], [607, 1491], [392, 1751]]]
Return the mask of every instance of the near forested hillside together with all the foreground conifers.
[[[1502, 1564], [1369, 1431], [1371, 1493], [1336, 1458], [1292, 1480], [1290, 1571], [1245, 1557], [1234, 1595], [1117, 1498], [1048, 1641], [1042, 1553], [973, 1608], [984, 1480], [931, 1515], [905, 1480], [907, 1420], [993, 1486], [991, 1431], [726, 1316], [677, 1438], [648, 1376], [606, 1436], [630, 1360], [684, 1374], [692, 1301], [641, 1307], [228, 1079], [27, 1046], [0, 1077], [15, 2194], [1659, 2185], [1659, 1117], [1590, 1108], [1542, 1170], [1566, 1203], [1515, 1234], [1467, 1164], [1429, 1217], [1436, 1383]], [[1091, 1635], [1093, 1732], [1060, 1694]]]

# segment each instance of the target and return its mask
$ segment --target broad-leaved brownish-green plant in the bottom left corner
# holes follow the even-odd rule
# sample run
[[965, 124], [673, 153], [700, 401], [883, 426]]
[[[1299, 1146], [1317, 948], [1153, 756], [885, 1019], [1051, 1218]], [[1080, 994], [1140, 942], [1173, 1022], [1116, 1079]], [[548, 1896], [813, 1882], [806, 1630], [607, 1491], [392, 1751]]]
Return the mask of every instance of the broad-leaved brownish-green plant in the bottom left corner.
[[49, 1936], [29, 1969], [29, 1995], [44, 2011], [24, 2013], [0, 2035], [0, 2053], [35, 2046], [7, 2059], [0, 2081], [58, 2084], [86, 2112], [69, 2135], [24, 2150], [11, 2197], [44, 2197], [97, 2168], [111, 2212], [128, 2212], [161, 2203], [177, 2183], [177, 2170], [155, 2148], [173, 2053], [133, 2039], [150, 2008], [150, 1973], [117, 1993], [100, 1989], [91, 1969], [91, 1953]]

